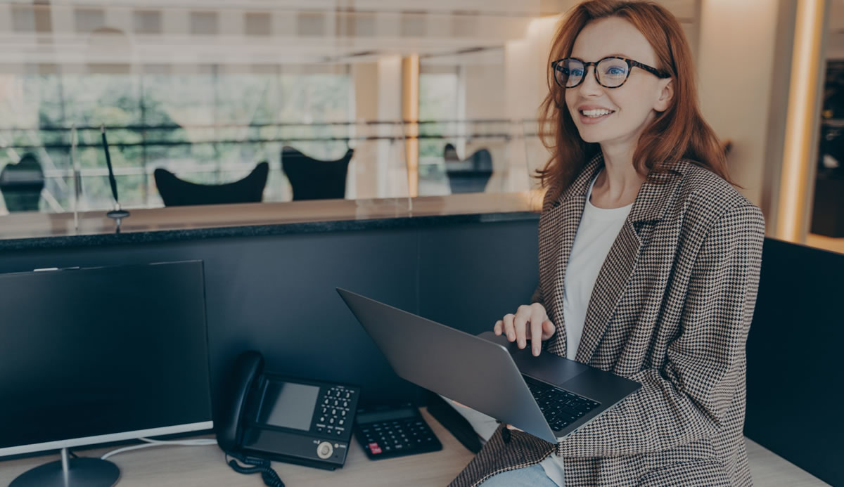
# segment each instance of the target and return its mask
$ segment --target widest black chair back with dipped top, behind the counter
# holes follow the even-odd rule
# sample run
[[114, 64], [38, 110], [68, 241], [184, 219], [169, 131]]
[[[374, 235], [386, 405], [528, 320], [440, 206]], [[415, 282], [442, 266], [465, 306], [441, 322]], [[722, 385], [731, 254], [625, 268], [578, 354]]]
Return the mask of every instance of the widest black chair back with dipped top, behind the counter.
[[197, 185], [163, 168], [153, 174], [164, 206], [187, 206], [260, 203], [268, 173], [267, 162], [257, 163], [246, 178], [225, 185]]

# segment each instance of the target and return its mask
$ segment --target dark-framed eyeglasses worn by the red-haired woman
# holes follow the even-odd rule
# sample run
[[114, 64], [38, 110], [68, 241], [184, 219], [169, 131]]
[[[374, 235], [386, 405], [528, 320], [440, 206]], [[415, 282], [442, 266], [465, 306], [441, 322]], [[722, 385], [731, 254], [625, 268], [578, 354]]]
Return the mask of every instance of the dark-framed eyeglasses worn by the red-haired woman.
[[641, 67], [657, 78], [671, 78], [670, 74], [661, 72], [655, 67], [619, 56], [604, 57], [598, 62], [585, 62], [576, 57], [566, 57], [551, 62], [554, 80], [560, 88], [575, 88], [583, 83], [587, 68], [590, 66], [595, 67], [595, 80], [604, 88], [619, 88], [627, 81], [627, 78], [630, 78], [630, 70], [634, 66]]

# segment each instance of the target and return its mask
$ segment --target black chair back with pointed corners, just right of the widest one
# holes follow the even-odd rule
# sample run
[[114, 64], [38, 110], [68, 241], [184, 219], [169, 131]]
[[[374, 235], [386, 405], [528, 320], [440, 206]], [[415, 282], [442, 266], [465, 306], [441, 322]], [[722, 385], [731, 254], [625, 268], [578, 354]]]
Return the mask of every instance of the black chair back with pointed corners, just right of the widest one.
[[293, 187], [293, 201], [344, 198], [353, 154], [354, 149], [349, 149], [336, 161], [322, 161], [293, 147], [282, 147], [281, 167]]

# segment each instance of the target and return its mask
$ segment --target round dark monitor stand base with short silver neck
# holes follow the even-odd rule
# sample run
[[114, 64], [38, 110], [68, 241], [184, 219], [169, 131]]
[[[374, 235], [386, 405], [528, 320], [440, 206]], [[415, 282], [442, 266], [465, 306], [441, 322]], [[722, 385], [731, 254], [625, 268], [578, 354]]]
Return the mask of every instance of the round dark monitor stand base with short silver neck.
[[14, 479], [8, 487], [111, 487], [120, 479], [120, 468], [100, 458], [68, 458], [35, 467]]

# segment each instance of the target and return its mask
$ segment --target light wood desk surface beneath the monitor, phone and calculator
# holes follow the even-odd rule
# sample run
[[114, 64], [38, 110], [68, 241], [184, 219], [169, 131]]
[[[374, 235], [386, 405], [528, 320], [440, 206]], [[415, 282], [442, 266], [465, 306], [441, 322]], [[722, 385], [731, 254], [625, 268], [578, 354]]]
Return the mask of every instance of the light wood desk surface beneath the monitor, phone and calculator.
[[[460, 442], [433, 419], [424, 408], [422, 415], [442, 443], [439, 452], [371, 461], [352, 438], [344, 468], [321, 470], [289, 463], [273, 463], [287, 487], [344, 487], [395, 485], [446, 485], [473, 458]], [[117, 447], [78, 452], [80, 457], [100, 457]], [[57, 454], [0, 462], [0, 485], [8, 485], [19, 474], [42, 463], [57, 460]], [[223, 461], [223, 452], [208, 447], [150, 447], [118, 453], [109, 460], [120, 467], [119, 487], [260, 487], [257, 474], [237, 474]]]

